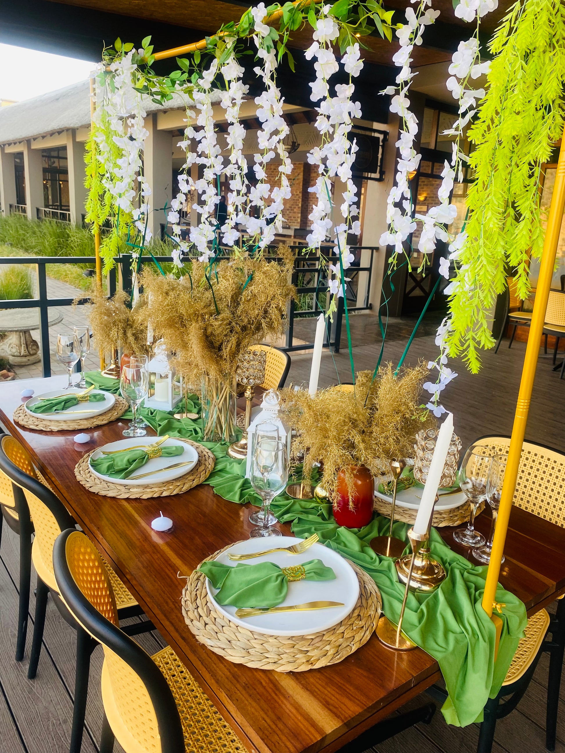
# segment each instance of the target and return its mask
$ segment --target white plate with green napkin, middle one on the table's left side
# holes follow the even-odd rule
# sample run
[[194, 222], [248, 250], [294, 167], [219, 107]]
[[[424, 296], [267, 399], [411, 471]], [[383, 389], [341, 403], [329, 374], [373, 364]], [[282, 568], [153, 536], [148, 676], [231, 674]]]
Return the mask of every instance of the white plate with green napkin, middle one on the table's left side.
[[110, 476], [102, 476], [92, 467], [91, 461], [98, 459], [102, 456], [103, 450], [126, 450], [127, 447], [137, 447], [138, 445], [154, 444], [159, 437], [127, 437], [127, 439], [120, 439], [117, 442], [110, 442], [103, 447], [98, 447], [90, 456], [88, 465], [90, 471], [99, 478], [110, 483], [123, 483], [124, 486], [147, 486], [148, 483], [162, 483], [163, 481], [172, 481], [173, 479], [184, 476], [185, 473], [191, 471], [198, 462], [198, 453], [194, 450], [190, 444], [182, 442], [179, 439], [167, 439], [160, 445], [160, 447], [182, 447], [185, 451], [182, 455], [173, 455], [172, 457], [150, 458], [145, 465], [141, 465], [133, 471], [133, 476], [142, 473], [149, 473], [150, 471], [158, 471], [160, 468], [166, 468], [168, 465], [175, 465], [176, 463], [188, 462], [188, 465], [183, 465], [182, 468], [171, 468], [170, 471], [163, 471], [162, 473], [154, 473], [151, 476], [145, 476], [145, 478], [111, 478]]

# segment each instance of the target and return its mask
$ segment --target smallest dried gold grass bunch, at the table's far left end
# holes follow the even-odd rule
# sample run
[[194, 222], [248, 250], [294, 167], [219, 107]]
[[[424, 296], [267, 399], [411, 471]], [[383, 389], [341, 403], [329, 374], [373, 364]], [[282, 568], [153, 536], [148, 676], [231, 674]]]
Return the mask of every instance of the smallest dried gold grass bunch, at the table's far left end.
[[93, 293], [91, 298], [93, 306], [88, 322], [99, 348], [121, 348], [129, 355], [149, 355], [145, 296], [139, 297], [133, 309], [127, 307], [130, 296], [124, 291], [118, 291], [111, 298]]

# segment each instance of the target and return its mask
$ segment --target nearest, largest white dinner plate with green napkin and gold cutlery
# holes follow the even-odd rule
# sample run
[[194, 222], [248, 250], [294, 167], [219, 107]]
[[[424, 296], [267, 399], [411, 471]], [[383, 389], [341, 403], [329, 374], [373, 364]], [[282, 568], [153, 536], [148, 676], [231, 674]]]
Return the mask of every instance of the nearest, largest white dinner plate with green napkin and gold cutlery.
[[[302, 541], [294, 536], [274, 536], [269, 538], [249, 538], [247, 541], [240, 541], [233, 547], [219, 554], [216, 559], [224, 565], [237, 565], [232, 559], [229, 559], [228, 553], [247, 554], [258, 552], [275, 547], [289, 547]], [[257, 562], [274, 562], [279, 567], [289, 567], [290, 565], [302, 565], [309, 562], [310, 559], [321, 559], [325, 566], [331, 567], [335, 573], [334, 581], [294, 581], [289, 583], [289, 592], [286, 599], [278, 606], [290, 606], [293, 604], [305, 604], [306, 602], [342, 602], [343, 607], [332, 607], [329, 609], [317, 609], [314, 611], [300, 612], [282, 612], [279, 614], [259, 614], [257, 617], [248, 617], [242, 620], [235, 616], [237, 607], [222, 606], [214, 599], [214, 594], [218, 590], [212, 587], [209, 579], [206, 578], [206, 589], [208, 590], [209, 599], [214, 603], [215, 608], [232, 622], [246, 627], [249, 630], [255, 630], [255, 633], [264, 633], [267, 636], [309, 636], [310, 633], [320, 633], [322, 630], [328, 630], [330, 627], [337, 625], [344, 617], [353, 610], [359, 598], [359, 581], [355, 571], [341, 554], [334, 552], [333, 549], [323, 546], [322, 544], [313, 544], [302, 554], [290, 554], [278, 552], [275, 554], [265, 554], [255, 559], [246, 559], [249, 565]]]

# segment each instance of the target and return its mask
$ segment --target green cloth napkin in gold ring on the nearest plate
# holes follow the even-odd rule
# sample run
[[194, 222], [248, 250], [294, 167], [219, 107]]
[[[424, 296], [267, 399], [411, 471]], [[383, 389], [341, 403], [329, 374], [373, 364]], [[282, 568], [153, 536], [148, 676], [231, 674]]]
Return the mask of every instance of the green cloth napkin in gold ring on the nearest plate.
[[[333, 581], [335, 573], [321, 559], [310, 559], [298, 568], [303, 568], [302, 580]], [[218, 588], [214, 598], [218, 604], [234, 607], [266, 609], [276, 607], [286, 599], [289, 580], [298, 581], [297, 566], [281, 568], [274, 562], [257, 562], [250, 565], [238, 562], [235, 567], [221, 562], [203, 562], [198, 569]]]

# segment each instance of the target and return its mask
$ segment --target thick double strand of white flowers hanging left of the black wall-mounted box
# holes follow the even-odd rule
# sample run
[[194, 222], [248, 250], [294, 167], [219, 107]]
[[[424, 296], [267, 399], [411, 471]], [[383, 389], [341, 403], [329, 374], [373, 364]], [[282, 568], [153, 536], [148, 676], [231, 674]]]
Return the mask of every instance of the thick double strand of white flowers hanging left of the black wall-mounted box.
[[[311, 165], [317, 165], [319, 172], [316, 185], [308, 189], [316, 194], [317, 203], [309, 215], [312, 226], [307, 242], [310, 248], [319, 248], [328, 236], [332, 225], [330, 178], [337, 175], [346, 184], [346, 190], [342, 194], [344, 202], [340, 206], [344, 221], [334, 227], [336, 254], [338, 258], [341, 255], [341, 265], [339, 261], [337, 264], [329, 265], [334, 275], [328, 280], [328, 290], [334, 297], [331, 310], [334, 310], [335, 298], [343, 295], [344, 281], [341, 279], [341, 268], [347, 270], [354, 260], [347, 245], [347, 234], [359, 235], [361, 231], [359, 221], [353, 219], [359, 215], [359, 209], [356, 206], [357, 187], [353, 183], [351, 171], [357, 145], [355, 140], [353, 143], [350, 142], [347, 134], [353, 127], [353, 117], [361, 117], [359, 102], [352, 102], [351, 98], [355, 91], [352, 77], [359, 75], [363, 63], [360, 59], [359, 44], [355, 43], [347, 47], [341, 62], [350, 75], [350, 83], [337, 84], [335, 87], [337, 96], [330, 96], [328, 78], [339, 70], [339, 64], [331, 50], [331, 42], [339, 35], [339, 27], [331, 17], [327, 17], [329, 10], [329, 5], [322, 7], [319, 20], [316, 22], [316, 31], [313, 33], [314, 42], [306, 51], [307, 59], [316, 58], [314, 63], [316, 80], [310, 84], [312, 87], [310, 99], [313, 102], [322, 99], [319, 107], [316, 108], [319, 115], [315, 123], [316, 128], [322, 134], [322, 145], [314, 147], [307, 156], [308, 162]], [[337, 202], [337, 197], [335, 198]], [[347, 281], [348, 278], [345, 280]]]

